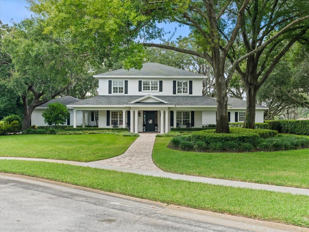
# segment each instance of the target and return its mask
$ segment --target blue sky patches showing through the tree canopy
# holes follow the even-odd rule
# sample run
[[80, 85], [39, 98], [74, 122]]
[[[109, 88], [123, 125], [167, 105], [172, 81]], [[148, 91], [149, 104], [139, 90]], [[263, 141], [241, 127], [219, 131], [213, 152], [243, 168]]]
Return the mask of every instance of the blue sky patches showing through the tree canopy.
[[[0, 0], [0, 20], [4, 24], [12, 25], [12, 22], [19, 22], [25, 17], [30, 17], [34, 15], [33, 12], [26, 9], [28, 3], [25, 0]], [[175, 40], [178, 36], [187, 36], [189, 33], [189, 27], [183, 26], [178, 27], [178, 23], [158, 23], [158, 27], [164, 27], [166, 32], [173, 33], [175, 27], [177, 30], [175, 35], [172, 37], [172, 40]], [[171, 34], [165, 35], [164, 39], [170, 39]], [[154, 40], [153, 42], [159, 43], [159, 40]]]

